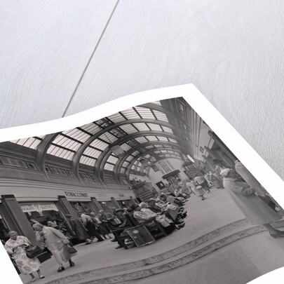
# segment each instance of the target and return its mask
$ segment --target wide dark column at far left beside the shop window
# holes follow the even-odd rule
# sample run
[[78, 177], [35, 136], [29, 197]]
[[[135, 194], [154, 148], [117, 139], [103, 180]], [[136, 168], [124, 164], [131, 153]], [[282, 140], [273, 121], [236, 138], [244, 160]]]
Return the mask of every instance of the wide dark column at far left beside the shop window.
[[16, 231], [18, 235], [26, 236], [31, 243], [36, 243], [34, 229], [29, 223], [24, 212], [20, 208], [18, 201], [13, 194], [1, 196], [1, 214], [8, 224], [9, 229]]

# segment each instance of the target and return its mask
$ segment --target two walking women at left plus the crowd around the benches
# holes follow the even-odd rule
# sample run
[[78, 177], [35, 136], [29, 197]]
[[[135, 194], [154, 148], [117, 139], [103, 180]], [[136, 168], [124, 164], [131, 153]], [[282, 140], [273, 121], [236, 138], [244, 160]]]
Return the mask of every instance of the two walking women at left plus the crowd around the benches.
[[[67, 214], [66, 217], [72, 228], [71, 236], [86, 245], [93, 243], [95, 238], [97, 242], [107, 238], [111, 242], [118, 242], [116, 236], [119, 236], [124, 229], [133, 226], [133, 224], [129, 224], [126, 215], [132, 216], [137, 223], [148, 222], [147, 226], [151, 225], [151, 221], [155, 219], [163, 226], [167, 234], [170, 234], [173, 230], [181, 229], [184, 226], [182, 219], [187, 216], [187, 212], [182, 206], [187, 200], [187, 196], [177, 198], [177, 203], [180, 205], [175, 203], [176, 197], [172, 197], [168, 199], [168, 196], [164, 194], [157, 195], [147, 203], [135, 203], [130, 208], [112, 208], [112, 213], [100, 210], [97, 215], [95, 212], [82, 212], [78, 217]], [[173, 212], [177, 213], [173, 214]], [[32, 245], [28, 238], [18, 236], [15, 231], [9, 232], [10, 238], [5, 243], [5, 248], [15, 260], [20, 273], [29, 274], [32, 277], [32, 282], [36, 280], [34, 273], [37, 273], [39, 278], [45, 277], [41, 274], [41, 262], [36, 257], [37, 255], [31, 257], [27, 252], [28, 248], [40, 248], [39, 254], [47, 248], [58, 263], [58, 272], [65, 270], [66, 262], [70, 267], [75, 265], [69, 252], [69, 248], [73, 247], [71, 238], [65, 234], [65, 231], [62, 231], [55, 221], [48, 220], [46, 225], [36, 222], [32, 226], [39, 245]], [[133, 243], [133, 245], [135, 244]], [[116, 248], [122, 248], [122, 246], [118, 245]]]

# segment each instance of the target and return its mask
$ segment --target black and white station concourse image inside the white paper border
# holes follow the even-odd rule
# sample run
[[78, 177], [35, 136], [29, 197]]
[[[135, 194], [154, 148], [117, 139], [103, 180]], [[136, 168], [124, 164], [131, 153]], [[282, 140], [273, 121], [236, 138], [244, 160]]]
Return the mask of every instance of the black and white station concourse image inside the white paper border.
[[183, 97], [0, 143], [0, 238], [22, 283], [245, 284], [284, 211]]

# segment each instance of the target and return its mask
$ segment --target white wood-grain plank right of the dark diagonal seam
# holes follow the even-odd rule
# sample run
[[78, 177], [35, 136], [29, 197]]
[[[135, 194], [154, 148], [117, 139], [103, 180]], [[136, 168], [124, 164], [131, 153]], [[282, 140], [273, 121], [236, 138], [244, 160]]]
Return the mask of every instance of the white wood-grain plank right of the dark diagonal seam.
[[284, 177], [283, 27], [283, 1], [121, 1], [67, 114], [194, 83]]

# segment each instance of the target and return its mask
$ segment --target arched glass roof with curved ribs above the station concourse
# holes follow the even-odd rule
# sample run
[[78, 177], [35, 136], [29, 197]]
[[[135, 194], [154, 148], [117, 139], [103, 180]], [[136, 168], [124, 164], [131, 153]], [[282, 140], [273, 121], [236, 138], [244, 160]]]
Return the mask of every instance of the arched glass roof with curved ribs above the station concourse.
[[[77, 163], [77, 168], [100, 166], [113, 171], [119, 165], [122, 174], [128, 169], [144, 171], [141, 157], [154, 162], [165, 157], [181, 157], [182, 151], [187, 154], [192, 148], [191, 133], [184, 128], [184, 113], [181, 115], [178, 109], [168, 108], [163, 101], [151, 102], [63, 131], [50, 140], [46, 157], [72, 161]], [[11, 142], [36, 150], [47, 136]], [[109, 150], [114, 144], [120, 145], [124, 157], [115, 156]]]

